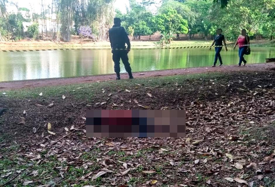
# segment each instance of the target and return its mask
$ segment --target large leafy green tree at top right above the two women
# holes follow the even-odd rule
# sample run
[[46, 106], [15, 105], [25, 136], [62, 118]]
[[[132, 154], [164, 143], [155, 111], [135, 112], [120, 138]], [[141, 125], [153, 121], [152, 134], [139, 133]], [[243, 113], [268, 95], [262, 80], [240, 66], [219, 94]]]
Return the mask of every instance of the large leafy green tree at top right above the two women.
[[275, 0], [231, 0], [222, 10], [213, 6], [209, 18], [211, 22], [224, 30], [224, 34], [230, 40], [236, 40], [242, 29], [246, 29], [252, 39], [254, 34], [262, 28], [264, 23], [262, 20], [266, 23], [272, 20], [268, 19], [268, 15], [274, 6]]

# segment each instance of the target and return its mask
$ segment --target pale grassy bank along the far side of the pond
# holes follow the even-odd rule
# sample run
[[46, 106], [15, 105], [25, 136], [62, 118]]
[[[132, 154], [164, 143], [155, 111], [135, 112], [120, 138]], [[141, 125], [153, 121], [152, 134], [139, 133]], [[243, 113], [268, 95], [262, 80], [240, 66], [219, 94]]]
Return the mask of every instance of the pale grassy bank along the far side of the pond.
[[[227, 45], [234, 45], [235, 41], [228, 41]], [[270, 44], [274, 41], [250, 41], [251, 44]], [[211, 45], [212, 41], [205, 40], [186, 40], [186, 41], [172, 41], [170, 46], [195, 46], [195, 45]], [[152, 47], [152, 46], [161, 46], [159, 41], [131, 41], [131, 46], [133, 48], [140, 47]], [[21, 48], [76, 48], [76, 47], [95, 47], [95, 48], [109, 48], [109, 41], [104, 42], [85, 42], [81, 44], [79, 41], [73, 42], [49, 42], [49, 41], [18, 41], [18, 42], [0, 42], [0, 49], [21, 49]]]

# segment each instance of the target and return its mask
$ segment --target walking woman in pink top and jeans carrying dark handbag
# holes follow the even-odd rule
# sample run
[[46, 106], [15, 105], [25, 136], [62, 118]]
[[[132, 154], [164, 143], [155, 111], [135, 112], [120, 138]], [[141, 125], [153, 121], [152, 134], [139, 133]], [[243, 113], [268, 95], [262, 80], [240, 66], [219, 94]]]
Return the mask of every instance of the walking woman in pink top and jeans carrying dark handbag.
[[245, 55], [245, 52], [250, 49], [249, 37], [246, 34], [246, 30], [245, 29], [242, 30], [242, 35], [240, 35], [238, 37], [238, 39], [237, 39], [237, 41], [236, 41], [233, 49], [236, 48], [237, 44], [239, 45], [239, 57], [240, 57], [238, 66], [240, 66], [242, 64], [242, 62], [245, 65], [246, 64], [246, 60], [245, 60], [245, 58], [243, 58], [243, 56]]

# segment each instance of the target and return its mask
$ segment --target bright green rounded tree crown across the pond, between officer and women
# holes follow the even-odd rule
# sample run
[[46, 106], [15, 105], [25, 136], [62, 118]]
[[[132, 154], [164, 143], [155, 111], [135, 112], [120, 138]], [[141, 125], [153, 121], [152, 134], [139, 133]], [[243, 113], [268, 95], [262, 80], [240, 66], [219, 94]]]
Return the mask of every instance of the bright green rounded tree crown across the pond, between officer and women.
[[188, 33], [187, 20], [183, 19], [176, 10], [168, 8], [164, 13], [156, 15], [158, 30], [166, 33]]

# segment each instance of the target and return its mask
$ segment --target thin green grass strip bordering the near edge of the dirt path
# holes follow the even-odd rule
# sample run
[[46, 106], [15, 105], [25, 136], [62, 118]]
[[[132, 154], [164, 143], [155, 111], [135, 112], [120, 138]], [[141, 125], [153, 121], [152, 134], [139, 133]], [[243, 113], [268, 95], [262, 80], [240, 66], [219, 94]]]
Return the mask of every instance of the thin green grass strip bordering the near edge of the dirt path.
[[[132, 80], [111, 80], [100, 83], [84, 83], [84, 84], [71, 84], [65, 86], [46, 86], [46, 87], [35, 87], [35, 88], [26, 88], [18, 90], [9, 90], [3, 91], [6, 93], [7, 98], [18, 98], [18, 99], [35, 99], [39, 98], [41, 100], [50, 98], [61, 98], [62, 95], [70, 95], [76, 99], [81, 100], [91, 100], [95, 94], [102, 93], [102, 89], [106, 92], [118, 91], [118, 88], [135, 90], [139, 85], [144, 85], [144, 87], [155, 87], [159, 86], [160, 88], [175, 88], [175, 83], [185, 84], [186, 82], [196, 84], [198, 81], [210, 81], [214, 79], [216, 84], [224, 83], [229, 78], [229, 75], [222, 74], [220, 72], [212, 73], [202, 73], [202, 74], [191, 74], [191, 75], [175, 75], [175, 76], [165, 76], [158, 78], [138, 78]], [[82, 88], [83, 87], [83, 88]], [[81, 89], [77, 89], [81, 88]], [[192, 85], [188, 86], [190, 91]], [[43, 93], [42, 96], [39, 96], [39, 93]], [[106, 95], [106, 92], [104, 95]], [[62, 98], [61, 98], [62, 99]]]

